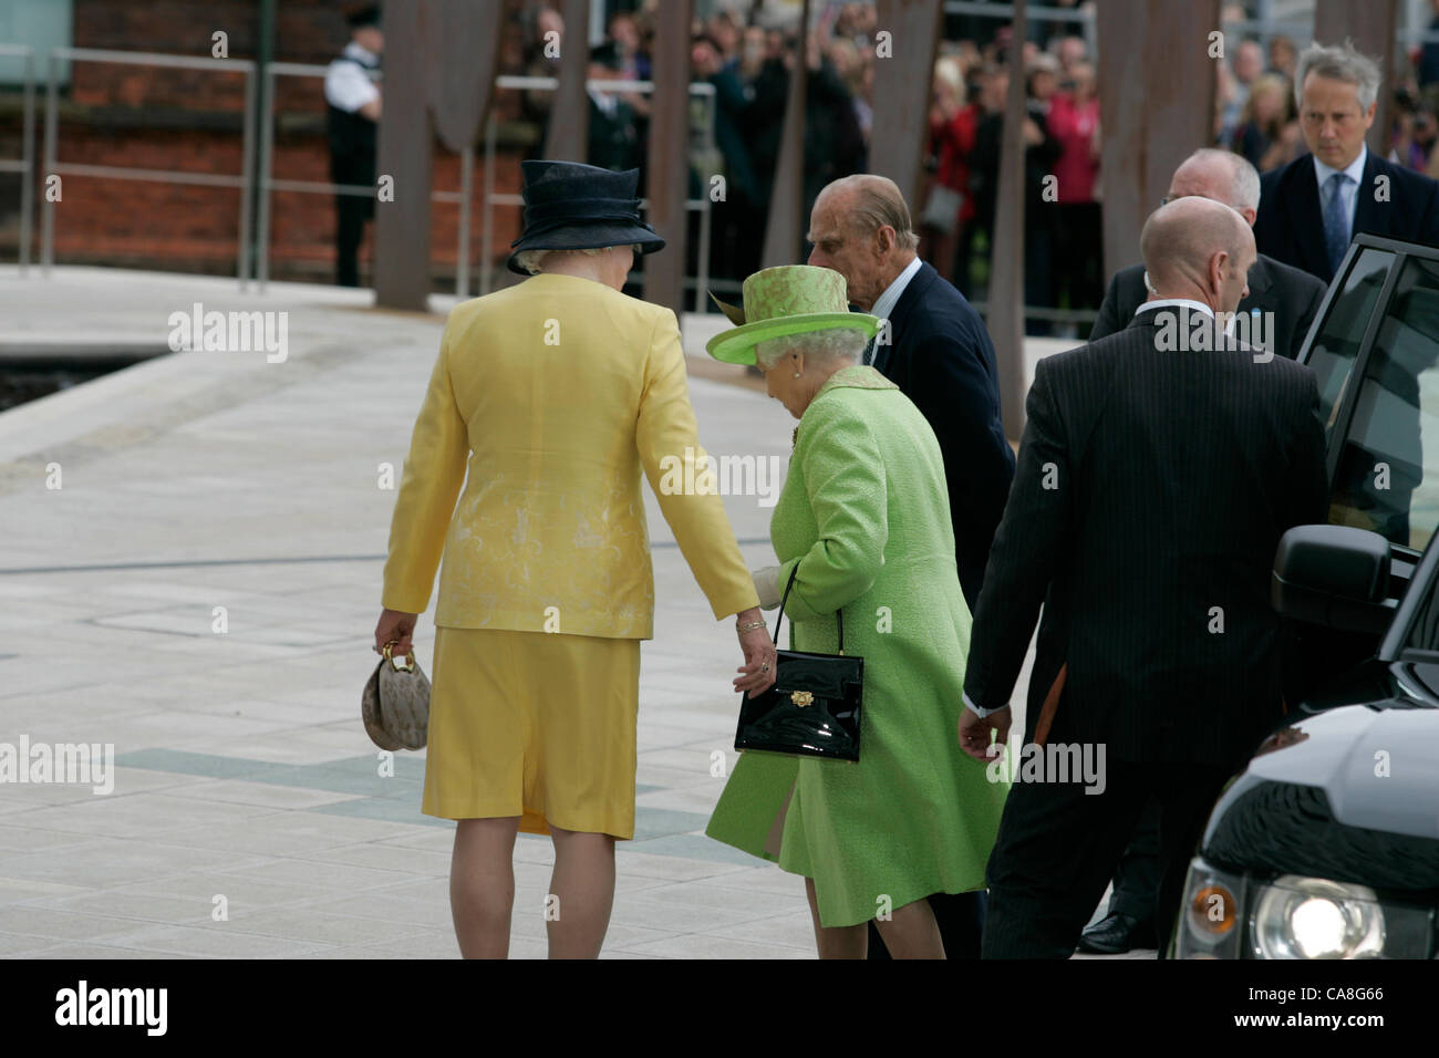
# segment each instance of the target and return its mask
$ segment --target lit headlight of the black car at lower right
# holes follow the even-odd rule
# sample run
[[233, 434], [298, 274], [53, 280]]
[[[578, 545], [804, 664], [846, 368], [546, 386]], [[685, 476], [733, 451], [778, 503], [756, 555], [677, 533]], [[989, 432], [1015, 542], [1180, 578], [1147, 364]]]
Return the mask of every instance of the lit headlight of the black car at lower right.
[[1258, 959], [1377, 959], [1384, 911], [1366, 885], [1285, 874], [1259, 897], [1253, 947]]

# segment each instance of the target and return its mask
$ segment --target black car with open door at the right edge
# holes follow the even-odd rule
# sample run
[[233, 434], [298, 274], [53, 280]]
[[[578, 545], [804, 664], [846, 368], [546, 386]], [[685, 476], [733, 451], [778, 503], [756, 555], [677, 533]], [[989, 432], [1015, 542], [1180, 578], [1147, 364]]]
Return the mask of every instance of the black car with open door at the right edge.
[[1210, 815], [1180, 957], [1439, 953], [1439, 249], [1361, 235], [1299, 354], [1330, 524], [1289, 530], [1275, 607], [1308, 691]]

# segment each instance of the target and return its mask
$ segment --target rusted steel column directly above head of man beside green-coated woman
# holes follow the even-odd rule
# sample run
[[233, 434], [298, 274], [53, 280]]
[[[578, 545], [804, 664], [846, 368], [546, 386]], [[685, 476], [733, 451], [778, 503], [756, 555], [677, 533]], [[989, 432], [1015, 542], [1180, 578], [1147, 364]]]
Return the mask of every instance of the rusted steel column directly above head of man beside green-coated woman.
[[869, 168], [895, 181], [912, 213], [922, 206], [921, 160], [943, 16], [943, 0], [879, 0], [878, 32], [889, 33], [892, 52], [875, 59]]

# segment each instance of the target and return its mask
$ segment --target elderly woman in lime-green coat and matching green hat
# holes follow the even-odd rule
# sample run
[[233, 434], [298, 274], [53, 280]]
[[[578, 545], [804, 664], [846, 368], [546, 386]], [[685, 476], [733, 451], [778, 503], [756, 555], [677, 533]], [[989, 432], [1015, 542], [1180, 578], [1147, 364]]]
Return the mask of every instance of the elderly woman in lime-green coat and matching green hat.
[[[822, 959], [865, 956], [875, 920], [895, 957], [943, 957], [925, 897], [984, 887], [1007, 786], [958, 746], [970, 613], [954, 564], [934, 432], [861, 353], [875, 317], [846, 311], [839, 272], [770, 268], [711, 356], [758, 363], [800, 420], [754, 574], [786, 605], [791, 648], [865, 659], [859, 761], [745, 753], [707, 833], [806, 878]], [[734, 318], [734, 311], [731, 311]]]

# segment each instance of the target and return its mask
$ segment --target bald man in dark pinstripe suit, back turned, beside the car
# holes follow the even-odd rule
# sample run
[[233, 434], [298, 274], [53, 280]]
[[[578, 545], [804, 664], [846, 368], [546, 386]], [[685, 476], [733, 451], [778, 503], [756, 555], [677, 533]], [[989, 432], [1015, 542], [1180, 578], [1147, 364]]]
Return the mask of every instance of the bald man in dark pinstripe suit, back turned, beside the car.
[[[1154, 289], [1131, 324], [1039, 361], [974, 618], [960, 743], [1013, 779], [986, 959], [1069, 957], [1150, 797], [1166, 944], [1220, 786], [1281, 718], [1275, 547], [1325, 515], [1314, 376], [1216, 321], [1245, 297], [1249, 226], [1179, 199], [1141, 249]], [[1023, 746], [990, 756], [991, 730], [1019, 741], [1009, 698], [1040, 605]]]

